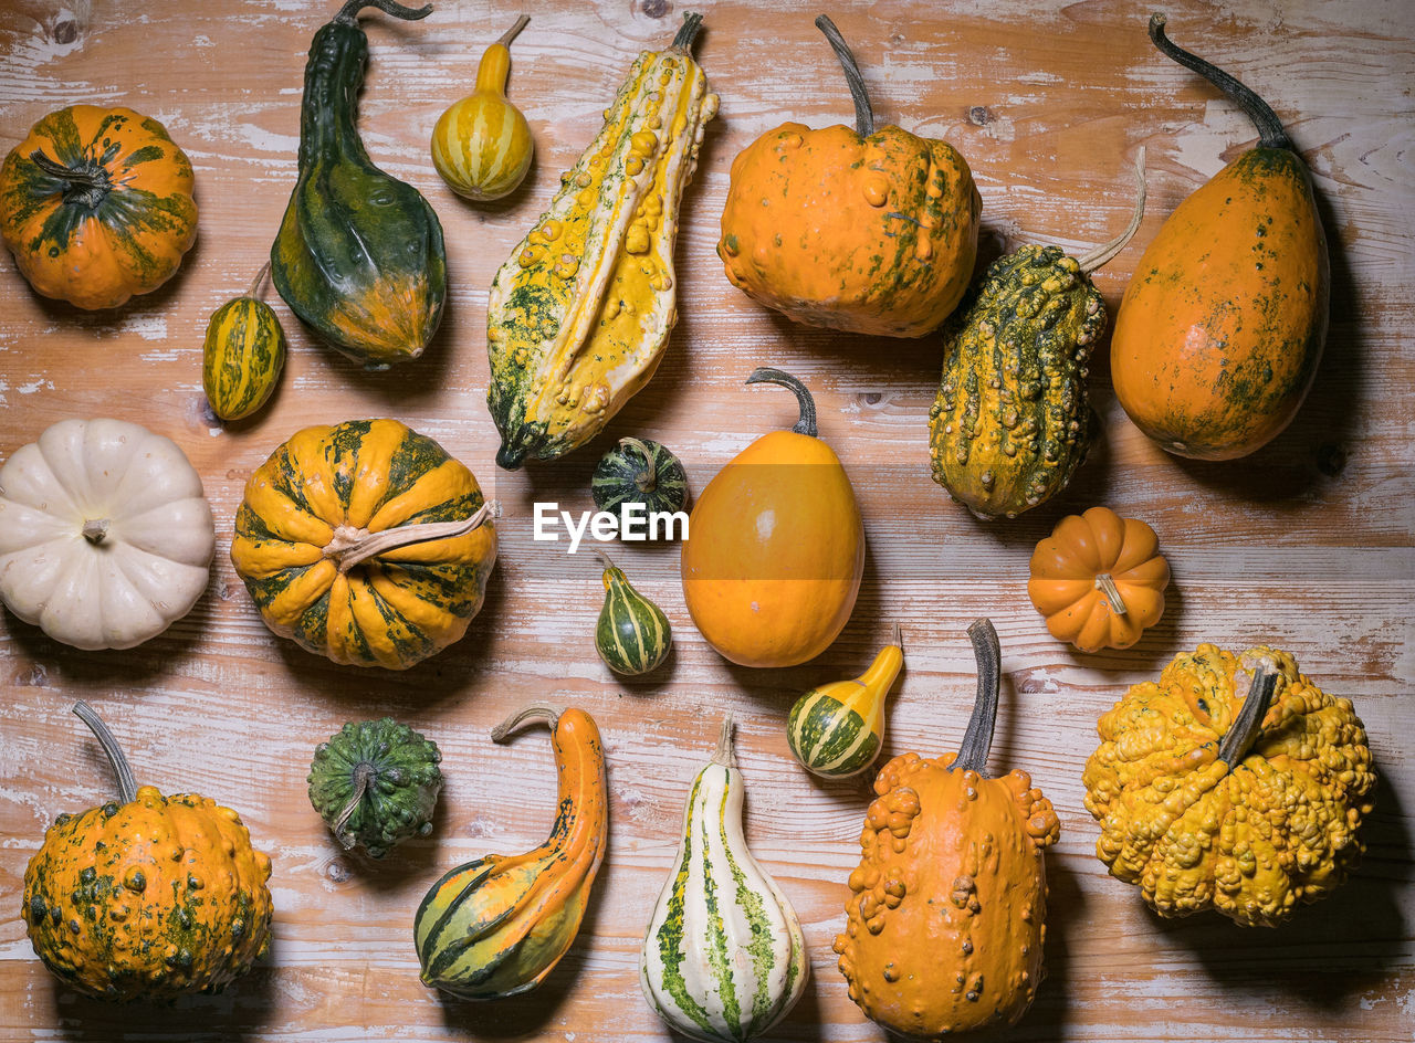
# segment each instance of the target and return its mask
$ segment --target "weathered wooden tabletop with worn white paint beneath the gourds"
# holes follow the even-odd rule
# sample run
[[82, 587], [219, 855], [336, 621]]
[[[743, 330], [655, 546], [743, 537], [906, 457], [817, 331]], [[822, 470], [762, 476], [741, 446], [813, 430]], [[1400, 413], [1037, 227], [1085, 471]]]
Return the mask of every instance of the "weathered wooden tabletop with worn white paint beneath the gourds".
[[[497, 266], [600, 124], [624, 69], [666, 45], [671, 0], [531, 3], [511, 98], [536, 161], [509, 199], [474, 206], [434, 174], [427, 134], [470, 89], [483, 48], [521, 11], [437, 0], [423, 23], [364, 17], [372, 64], [361, 131], [374, 160], [420, 188], [447, 232], [447, 315], [427, 353], [365, 373], [320, 345], [272, 294], [290, 338], [273, 403], [222, 427], [205, 408], [207, 318], [260, 266], [294, 178], [308, 41], [335, 0], [4, 0], [0, 148], [76, 102], [160, 119], [197, 168], [201, 233], [181, 271], [127, 307], [86, 314], [0, 271], [0, 455], [65, 417], [115, 416], [174, 438], [216, 514], [209, 589], [185, 619], [129, 652], [85, 653], [4, 613], [0, 622], [0, 1037], [67, 1040], [665, 1040], [637, 981], [638, 948], [678, 842], [685, 787], [727, 711], [749, 789], [749, 838], [805, 926], [812, 984], [773, 1039], [880, 1040], [845, 994], [831, 941], [843, 924], [867, 782], [822, 783], [790, 758], [799, 691], [857, 673], [903, 623], [906, 674], [886, 755], [954, 749], [972, 698], [964, 629], [998, 625], [1005, 705], [992, 763], [1024, 766], [1056, 803], [1047, 979], [1013, 1040], [1411, 1040], [1415, 1035], [1415, 328], [1411, 88], [1415, 48], [1398, 4], [1183, 0], [1170, 31], [1266, 96], [1315, 175], [1332, 242], [1332, 332], [1296, 423], [1230, 464], [1167, 456], [1092, 375], [1104, 437], [1070, 489], [1016, 522], [974, 522], [931, 481], [927, 414], [935, 338], [872, 341], [792, 325], [733, 290], [715, 256], [732, 158], [785, 119], [850, 120], [821, 4], [705, 3], [698, 55], [722, 113], [709, 127], [678, 242], [679, 322], [666, 359], [591, 447], [516, 473], [492, 462], [485, 302]], [[1149, 148], [1149, 213], [1097, 277], [1112, 308], [1163, 218], [1254, 141], [1214, 89], [1146, 40], [1149, 7], [1101, 0], [979, 4], [836, 0], [883, 120], [952, 141], [972, 164], [985, 236], [1109, 239], [1131, 208], [1129, 161]], [[1099, 353], [1104, 359], [1104, 350]], [[682, 455], [692, 486], [758, 434], [790, 396], [744, 389], [771, 363], [804, 377], [822, 435], [849, 469], [869, 557], [841, 639], [814, 663], [741, 670], [693, 629], [674, 547], [624, 547], [620, 564], [669, 613], [671, 663], [613, 677], [591, 644], [601, 588], [586, 553], [533, 543], [536, 500], [589, 506], [611, 437]], [[398, 417], [467, 462], [505, 506], [501, 555], [467, 637], [405, 673], [338, 667], [273, 637], [226, 551], [246, 475], [297, 428]], [[1095, 503], [1149, 520], [1174, 572], [1165, 619], [1133, 649], [1094, 656], [1050, 639], [1026, 598], [1036, 540]], [[1217, 914], [1165, 921], [1094, 856], [1081, 767], [1095, 719], [1125, 685], [1201, 640], [1292, 652], [1365, 722], [1381, 773], [1361, 869], [1276, 930]], [[18, 916], [24, 866], [61, 811], [106, 799], [109, 772], [69, 714], [98, 707], [142, 777], [239, 808], [272, 854], [270, 957], [221, 996], [175, 1010], [115, 1008], [57, 986]], [[488, 729], [529, 700], [589, 709], [610, 760], [610, 849], [579, 941], [529, 996], [449, 1001], [417, 979], [412, 914], [447, 868], [538, 844], [553, 811], [545, 732], [494, 746]], [[381, 864], [342, 854], [311, 811], [314, 743], [347, 719], [393, 714], [436, 739], [447, 777], [437, 828]]]

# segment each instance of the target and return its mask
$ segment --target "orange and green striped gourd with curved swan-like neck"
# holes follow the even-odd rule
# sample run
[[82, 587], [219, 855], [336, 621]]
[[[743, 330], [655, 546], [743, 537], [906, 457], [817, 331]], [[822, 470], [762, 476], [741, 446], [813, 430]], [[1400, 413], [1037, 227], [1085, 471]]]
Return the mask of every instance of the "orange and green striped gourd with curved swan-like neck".
[[463, 999], [529, 992], [574, 941], [604, 858], [608, 780], [604, 746], [583, 709], [532, 704], [501, 722], [505, 742], [528, 721], [550, 725], [559, 814], [545, 844], [487, 855], [434, 883], [413, 919], [423, 984]]

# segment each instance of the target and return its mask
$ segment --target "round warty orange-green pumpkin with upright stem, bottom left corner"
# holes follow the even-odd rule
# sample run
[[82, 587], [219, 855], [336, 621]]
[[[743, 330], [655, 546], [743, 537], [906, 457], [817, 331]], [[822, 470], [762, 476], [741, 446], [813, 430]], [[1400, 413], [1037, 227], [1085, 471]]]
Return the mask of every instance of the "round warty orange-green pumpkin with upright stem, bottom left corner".
[[119, 800], [61, 814], [24, 872], [34, 951], [61, 981], [113, 1001], [219, 992], [270, 944], [270, 859], [241, 817], [194, 793], [137, 786], [88, 705]]

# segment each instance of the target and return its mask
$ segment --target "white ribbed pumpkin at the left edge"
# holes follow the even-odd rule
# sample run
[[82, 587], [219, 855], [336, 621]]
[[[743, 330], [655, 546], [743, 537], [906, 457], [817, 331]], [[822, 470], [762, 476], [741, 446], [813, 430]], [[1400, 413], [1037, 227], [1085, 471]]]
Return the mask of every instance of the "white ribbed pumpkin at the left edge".
[[78, 649], [130, 649], [207, 589], [216, 530], [170, 438], [61, 420], [0, 468], [0, 601]]

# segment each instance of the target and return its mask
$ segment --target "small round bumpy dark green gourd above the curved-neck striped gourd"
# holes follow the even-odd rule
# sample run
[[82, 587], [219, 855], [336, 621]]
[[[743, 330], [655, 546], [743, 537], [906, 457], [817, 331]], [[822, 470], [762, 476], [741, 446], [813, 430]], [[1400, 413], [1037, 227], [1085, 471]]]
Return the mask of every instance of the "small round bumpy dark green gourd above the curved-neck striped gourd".
[[391, 717], [344, 725], [314, 748], [310, 803], [345, 849], [374, 858], [433, 830], [441, 752]]

